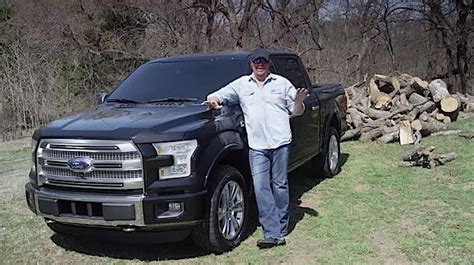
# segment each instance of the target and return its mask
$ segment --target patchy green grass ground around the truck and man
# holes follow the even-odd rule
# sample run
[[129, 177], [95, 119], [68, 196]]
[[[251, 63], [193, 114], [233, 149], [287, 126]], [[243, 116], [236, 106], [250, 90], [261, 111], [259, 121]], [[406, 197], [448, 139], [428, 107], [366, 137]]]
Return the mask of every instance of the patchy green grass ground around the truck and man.
[[[474, 131], [474, 119], [451, 125]], [[434, 169], [402, 168], [411, 146], [343, 143], [342, 172], [313, 177], [308, 165], [290, 175], [294, 229], [288, 244], [258, 250], [256, 230], [237, 249], [207, 254], [188, 240], [113, 245], [54, 235], [31, 213], [23, 185], [27, 146], [0, 149], [0, 257], [5, 263], [472, 263], [474, 142], [458, 136], [423, 139], [458, 158]]]

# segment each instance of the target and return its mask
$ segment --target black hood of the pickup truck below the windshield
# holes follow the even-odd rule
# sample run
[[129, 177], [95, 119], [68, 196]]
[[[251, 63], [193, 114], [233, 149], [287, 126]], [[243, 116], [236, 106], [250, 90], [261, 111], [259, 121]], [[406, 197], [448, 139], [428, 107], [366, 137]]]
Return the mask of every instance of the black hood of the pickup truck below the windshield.
[[[104, 104], [55, 120], [34, 138], [178, 140], [212, 117], [206, 106], [196, 104]], [[156, 139], [158, 135], [176, 139]]]

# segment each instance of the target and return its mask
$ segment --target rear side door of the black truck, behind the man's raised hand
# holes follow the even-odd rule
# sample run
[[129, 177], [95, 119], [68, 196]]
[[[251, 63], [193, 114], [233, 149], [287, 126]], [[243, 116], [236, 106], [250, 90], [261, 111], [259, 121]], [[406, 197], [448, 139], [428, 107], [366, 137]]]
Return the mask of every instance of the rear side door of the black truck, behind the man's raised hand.
[[[311, 91], [306, 70], [297, 56], [275, 55], [272, 57], [274, 73], [284, 76], [295, 88]], [[303, 115], [291, 118], [293, 134], [290, 168], [304, 162], [319, 151], [320, 111], [317, 96], [311, 93], [305, 100]]]

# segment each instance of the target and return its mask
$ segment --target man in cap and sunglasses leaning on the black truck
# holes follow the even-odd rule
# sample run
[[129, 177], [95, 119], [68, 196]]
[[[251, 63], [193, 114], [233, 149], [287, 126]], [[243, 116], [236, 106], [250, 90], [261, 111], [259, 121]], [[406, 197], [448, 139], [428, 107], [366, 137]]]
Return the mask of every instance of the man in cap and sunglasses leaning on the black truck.
[[249, 161], [264, 238], [259, 248], [284, 245], [289, 226], [288, 158], [290, 116], [304, 112], [306, 89], [298, 89], [270, 73], [270, 57], [256, 49], [250, 57], [252, 74], [242, 76], [207, 97], [209, 108], [240, 103], [248, 135]]

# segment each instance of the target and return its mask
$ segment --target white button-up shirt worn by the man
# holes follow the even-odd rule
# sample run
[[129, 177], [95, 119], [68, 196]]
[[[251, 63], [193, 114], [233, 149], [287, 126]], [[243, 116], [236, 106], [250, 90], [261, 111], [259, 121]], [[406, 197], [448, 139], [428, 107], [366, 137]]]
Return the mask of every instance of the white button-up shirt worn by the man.
[[237, 78], [208, 98], [217, 97], [221, 104], [239, 103], [249, 147], [262, 150], [291, 143], [290, 116], [295, 95], [295, 87], [283, 76], [269, 74], [263, 87], [259, 87], [251, 74]]

